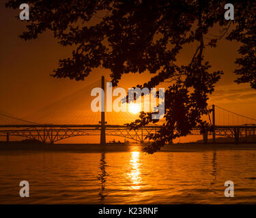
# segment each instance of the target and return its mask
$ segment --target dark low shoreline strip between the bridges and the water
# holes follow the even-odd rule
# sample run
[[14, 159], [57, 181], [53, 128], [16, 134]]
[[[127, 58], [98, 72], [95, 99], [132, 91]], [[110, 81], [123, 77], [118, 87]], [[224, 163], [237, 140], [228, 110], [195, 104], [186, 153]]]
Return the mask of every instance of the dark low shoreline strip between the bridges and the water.
[[[140, 151], [147, 144], [32, 144], [17, 142], [0, 142], [1, 151], [70, 151], [85, 153], [102, 153], [102, 152], [123, 152], [123, 151]], [[256, 143], [251, 144], [201, 144], [201, 143], [178, 143], [166, 144], [160, 152], [198, 152], [198, 151], [216, 151], [216, 150], [255, 150]]]

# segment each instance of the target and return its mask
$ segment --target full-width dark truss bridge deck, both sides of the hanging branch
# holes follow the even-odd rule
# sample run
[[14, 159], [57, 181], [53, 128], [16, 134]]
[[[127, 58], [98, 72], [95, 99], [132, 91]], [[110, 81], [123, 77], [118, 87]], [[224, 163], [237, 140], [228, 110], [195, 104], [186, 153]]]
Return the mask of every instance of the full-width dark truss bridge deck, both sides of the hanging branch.
[[[0, 136], [20, 136], [31, 140], [40, 140], [54, 144], [59, 140], [76, 136], [100, 136], [100, 125], [0, 125]], [[145, 142], [147, 136], [155, 134], [160, 126], [152, 125], [136, 130], [124, 125], [105, 125], [106, 136], [119, 136], [137, 142]], [[215, 133], [207, 135], [232, 138], [234, 142], [246, 142], [246, 136], [256, 140], [256, 125], [216, 126]], [[190, 135], [202, 135], [200, 129], [193, 129]]]

